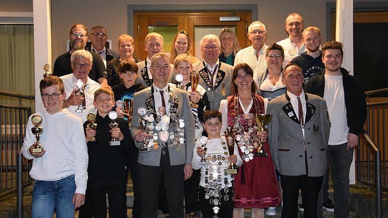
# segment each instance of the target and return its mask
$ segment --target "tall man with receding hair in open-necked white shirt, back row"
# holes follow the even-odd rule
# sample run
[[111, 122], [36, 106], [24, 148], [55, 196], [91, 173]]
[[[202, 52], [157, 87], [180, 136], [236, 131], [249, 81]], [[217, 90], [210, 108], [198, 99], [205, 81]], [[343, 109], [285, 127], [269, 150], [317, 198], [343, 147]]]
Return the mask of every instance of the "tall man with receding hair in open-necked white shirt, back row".
[[302, 40], [302, 16], [298, 13], [289, 14], [285, 18], [284, 28], [288, 37], [277, 42], [277, 44], [281, 45], [284, 49], [283, 68], [288, 64], [288, 62], [293, 60], [293, 58], [298, 57], [306, 50], [305, 44]]

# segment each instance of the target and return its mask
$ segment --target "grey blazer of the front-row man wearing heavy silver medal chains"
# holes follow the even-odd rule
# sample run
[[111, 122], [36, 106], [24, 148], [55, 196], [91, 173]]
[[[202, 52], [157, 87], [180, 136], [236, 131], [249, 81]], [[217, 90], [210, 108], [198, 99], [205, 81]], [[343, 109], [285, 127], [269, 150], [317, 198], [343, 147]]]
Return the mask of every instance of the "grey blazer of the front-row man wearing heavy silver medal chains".
[[[196, 132], [195, 132], [194, 118], [192, 116], [192, 113], [187, 113], [187, 112], [191, 112], [188, 95], [186, 91], [176, 88], [174, 84], [169, 83], [169, 88], [170, 90], [172, 90], [172, 96], [170, 95], [170, 99], [173, 98], [175, 102], [177, 101], [177, 105], [175, 104], [176, 106], [174, 107], [176, 107], [180, 111], [180, 113], [182, 113], [184, 124], [185, 124], [183, 127], [185, 142], [177, 149], [169, 149], [170, 163], [171, 165], [182, 165], [184, 163], [191, 164]], [[150, 105], [147, 105], [146, 101], [154, 97], [151, 89], [152, 87], [148, 87], [139, 92], [136, 92], [133, 95], [133, 117], [131, 122], [132, 124], [131, 135], [135, 142], [136, 142], [135, 133], [139, 129], [139, 126], [137, 123], [137, 121], [139, 120], [139, 115], [137, 114], [137, 109], [139, 107], [150, 108]], [[154, 108], [154, 109], [158, 111], [157, 108]], [[155, 124], [156, 124], [156, 121], [154, 121], [154, 125]], [[138, 163], [142, 165], [147, 165], [147, 166], [160, 166], [160, 156], [162, 153], [162, 149], [161, 149], [162, 141], [158, 139], [157, 142], [160, 145], [158, 149], [154, 149], [154, 147], [151, 147], [151, 151], [149, 152], [141, 152], [141, 153], [139, 152], [139, 156], [137, 159]], [[141, 146], [141, 142], [137, 142], [135, 144], [137, 147]]]

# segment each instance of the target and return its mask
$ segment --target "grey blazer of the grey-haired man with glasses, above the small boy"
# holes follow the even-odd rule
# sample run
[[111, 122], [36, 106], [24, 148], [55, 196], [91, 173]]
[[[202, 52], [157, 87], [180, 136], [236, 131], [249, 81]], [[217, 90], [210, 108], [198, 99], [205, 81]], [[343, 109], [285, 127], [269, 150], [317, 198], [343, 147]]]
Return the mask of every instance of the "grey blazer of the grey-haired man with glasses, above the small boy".
[[[205, 67], [204, 62], [198, 62], [192, 65], [192, 70], [200, 73], [200, 84], [205, 88], [209, 98], [210, 108], [218, 111], [220, 109], [220, 102], [222, 99], [226, 99], [230, 95], [230, 86], [232, 83], [233, 66], [228, 64], [219, 63], [217, 79], [215, 87], [211, 88], [209, 73]], [[223, 94], [222, 91], [225, 91]]]

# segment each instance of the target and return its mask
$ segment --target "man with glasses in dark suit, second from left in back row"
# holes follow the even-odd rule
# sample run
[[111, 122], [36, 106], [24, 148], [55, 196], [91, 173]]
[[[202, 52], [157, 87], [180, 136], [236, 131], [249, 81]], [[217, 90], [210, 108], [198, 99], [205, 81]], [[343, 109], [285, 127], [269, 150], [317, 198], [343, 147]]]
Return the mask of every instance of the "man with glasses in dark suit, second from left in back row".
[[109, 63], [112, 59], [119, 58], [119, 52], [105, 47], [107, 40], [107, 30], [103, 26], [94, 26], [91, 28], [90, 33], [91, 46], [86, 47], [86, 50], [96, 52], [100, 55], [105, 67], [107, 67], [107, 62]]

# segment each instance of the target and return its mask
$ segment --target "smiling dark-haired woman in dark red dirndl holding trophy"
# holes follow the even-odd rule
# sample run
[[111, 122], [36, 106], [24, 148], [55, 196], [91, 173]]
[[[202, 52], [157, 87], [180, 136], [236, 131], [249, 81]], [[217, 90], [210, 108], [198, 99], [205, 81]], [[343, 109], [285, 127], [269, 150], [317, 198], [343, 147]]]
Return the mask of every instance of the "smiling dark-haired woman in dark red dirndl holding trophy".
[[[222, 129], [237, 132], [238, 151], [244, 164], [234, 177], [233, 217], [244, 217], [244, 208], [252, 208], [252, 217], [264, 217], [266, 207], [280, 203], [275, 168], [266, 142], [267, 132], [258, 132], [254, 119], [265, 114], [268, 100], [256, 94], [253, 71], [248, 64], [234, 67], [232, 95], [221, 101]], [[262, 147], [259, 140], [263, 139]]]

